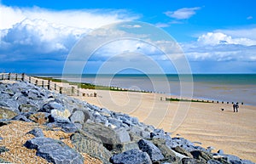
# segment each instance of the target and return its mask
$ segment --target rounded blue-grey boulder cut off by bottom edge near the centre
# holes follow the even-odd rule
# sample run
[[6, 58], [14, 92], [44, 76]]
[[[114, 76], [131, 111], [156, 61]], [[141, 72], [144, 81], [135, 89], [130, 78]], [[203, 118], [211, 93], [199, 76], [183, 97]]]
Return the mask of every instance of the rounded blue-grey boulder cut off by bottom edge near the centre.
[[152, 161], [147, 153], [133, 149], [114, 155], [110, 158], [110, 162], [114, 164], [151, 164]]

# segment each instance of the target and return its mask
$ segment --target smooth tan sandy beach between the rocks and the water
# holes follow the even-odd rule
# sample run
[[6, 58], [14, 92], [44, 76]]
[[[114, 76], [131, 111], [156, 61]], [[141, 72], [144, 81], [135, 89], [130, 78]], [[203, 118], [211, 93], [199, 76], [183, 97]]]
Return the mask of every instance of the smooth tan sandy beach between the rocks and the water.
[[[240, 105], [234, 113], [232, 105], [212, 103], [168, 102], [165, 95], [84, 89], [97, 97], [76, 97], [90, 104], [136, 116], [141, 122], [213, 146], [216, 152], [256, 162], [256, 106]], [[224, 111], [221, 109], [224, 108]], [[178, 134], [178, 135], [177, 135]]]

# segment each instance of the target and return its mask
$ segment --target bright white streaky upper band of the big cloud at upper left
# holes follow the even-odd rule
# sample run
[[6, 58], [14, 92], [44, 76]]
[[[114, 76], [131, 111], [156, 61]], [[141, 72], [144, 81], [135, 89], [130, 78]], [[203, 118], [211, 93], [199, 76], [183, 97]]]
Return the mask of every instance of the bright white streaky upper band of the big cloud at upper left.
[[44, 8], [12, 8], [0, 5], [0, 29], [11, 28], [22, 20], [47, 20], [57, 25], [76, 28], [97, 28], [119, 21], [136, 20], [138, 16], [125, 10], [84, 9], [47, 10]]

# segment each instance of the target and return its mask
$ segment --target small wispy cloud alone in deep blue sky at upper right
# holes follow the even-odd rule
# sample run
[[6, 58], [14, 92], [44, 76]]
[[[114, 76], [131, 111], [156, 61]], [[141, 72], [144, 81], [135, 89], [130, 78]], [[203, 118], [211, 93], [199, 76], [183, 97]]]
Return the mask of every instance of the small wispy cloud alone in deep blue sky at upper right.
[[177, 9], [176, 11], [166, 11], [164, 14], [166, 16], [175, 18], [177, 20], [186, 20], [189, 19], [191, 16], [195, 14], [196, 10], [199, 10], [199, 7], [195, 8], [180, 8]]

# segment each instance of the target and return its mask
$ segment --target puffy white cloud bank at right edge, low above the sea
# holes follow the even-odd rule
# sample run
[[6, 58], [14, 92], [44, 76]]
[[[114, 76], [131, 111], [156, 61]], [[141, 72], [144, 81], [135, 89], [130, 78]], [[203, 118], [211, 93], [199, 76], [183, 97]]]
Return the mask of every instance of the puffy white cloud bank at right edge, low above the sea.
[[[207, 32], [196, 42], [183, 43], [191, 61], [256, 61], [255, 29], [218, 30]], [[249, 35], [251, 33], [252, 35]]]

